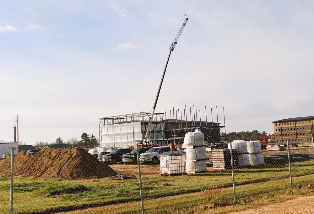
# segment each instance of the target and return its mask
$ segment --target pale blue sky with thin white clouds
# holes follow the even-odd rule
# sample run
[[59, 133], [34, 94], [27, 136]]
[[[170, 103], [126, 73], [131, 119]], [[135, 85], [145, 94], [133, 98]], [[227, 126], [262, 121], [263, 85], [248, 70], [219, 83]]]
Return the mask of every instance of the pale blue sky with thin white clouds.
[[156, 112], [194, 105], [227, 133], [268, 134], [314, 115], [313, 1], [3, 0], [0, 140], [14, 140], [17, 115], [30, 145], [99, 137], [101, 117], [152, 111], [185, 18]]

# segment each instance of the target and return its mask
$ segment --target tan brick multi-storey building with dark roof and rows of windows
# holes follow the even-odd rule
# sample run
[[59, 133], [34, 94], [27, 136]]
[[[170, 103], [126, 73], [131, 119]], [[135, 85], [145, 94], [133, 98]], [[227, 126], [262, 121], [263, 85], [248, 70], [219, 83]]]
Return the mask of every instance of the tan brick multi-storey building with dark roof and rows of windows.
[[314, 116], [273, 121], [276, 142], [312, 142]]

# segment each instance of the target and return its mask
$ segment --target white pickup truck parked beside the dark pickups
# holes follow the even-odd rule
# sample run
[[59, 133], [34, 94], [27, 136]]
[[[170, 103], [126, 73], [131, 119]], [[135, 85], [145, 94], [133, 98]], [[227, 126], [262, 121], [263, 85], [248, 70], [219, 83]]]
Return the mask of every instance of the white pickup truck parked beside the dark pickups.
[[174, 153], [181, 154], [183, 150], [171, 150], [170, 146], [160, 146], [153, 147], [149, 149], [147, 152], [142, 153], [139, 156], [140, 163], [148, 163], [157, 164], [160, 161], [160, 155], [171, 155]]

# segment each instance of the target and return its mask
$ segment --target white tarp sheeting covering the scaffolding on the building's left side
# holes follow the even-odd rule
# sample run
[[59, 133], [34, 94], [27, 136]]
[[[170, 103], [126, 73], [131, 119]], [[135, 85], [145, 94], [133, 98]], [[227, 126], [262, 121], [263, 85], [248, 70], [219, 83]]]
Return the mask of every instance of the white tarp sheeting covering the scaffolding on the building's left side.
[[141, 122], [134, 122], [100, 126], [99, 134], [100, 146], [108, 148], [134, 146], [142, 140], [142, 125]]

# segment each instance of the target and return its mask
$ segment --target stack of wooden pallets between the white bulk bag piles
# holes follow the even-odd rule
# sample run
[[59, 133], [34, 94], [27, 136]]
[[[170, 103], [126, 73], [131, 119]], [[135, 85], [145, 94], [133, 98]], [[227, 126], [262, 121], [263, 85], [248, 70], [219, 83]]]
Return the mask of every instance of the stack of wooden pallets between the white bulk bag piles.
[[[215, 149], [213, 154], [213, 169], [231, 169], [230, 149]], [[238, 166], [238, 150], [232, 149], [233, 166]]]

